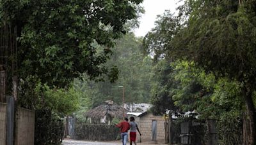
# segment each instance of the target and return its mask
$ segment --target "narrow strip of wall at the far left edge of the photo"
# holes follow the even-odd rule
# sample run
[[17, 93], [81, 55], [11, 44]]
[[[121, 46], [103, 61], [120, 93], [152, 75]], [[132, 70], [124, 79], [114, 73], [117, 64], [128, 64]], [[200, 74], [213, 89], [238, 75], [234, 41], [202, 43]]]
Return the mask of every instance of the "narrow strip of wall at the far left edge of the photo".
[[6, 144], [6, 104], [0, 102], [0, 144]]

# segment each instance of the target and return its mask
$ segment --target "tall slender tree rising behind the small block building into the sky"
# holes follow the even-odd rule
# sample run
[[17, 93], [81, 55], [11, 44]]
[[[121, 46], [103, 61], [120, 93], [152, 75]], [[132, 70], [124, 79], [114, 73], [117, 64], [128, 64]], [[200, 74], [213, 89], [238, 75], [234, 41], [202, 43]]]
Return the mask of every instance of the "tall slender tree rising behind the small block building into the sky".
[[173, 104], [173, 89], [176, 82], [173, 79], [173, 68], [170, 62], [175, 57], [170, 55], [168, 46], [180, 28], [180, 19], [175, 17], [170, 11], [165, 11], [163, 15], [158, 15], [154, 27], [143, 38], [143, 48], [146, 54], [154, 57], [152, 76], [151, 103], [155, 114], [164, 114], [166, 110], [175, 113], [179, 108]]

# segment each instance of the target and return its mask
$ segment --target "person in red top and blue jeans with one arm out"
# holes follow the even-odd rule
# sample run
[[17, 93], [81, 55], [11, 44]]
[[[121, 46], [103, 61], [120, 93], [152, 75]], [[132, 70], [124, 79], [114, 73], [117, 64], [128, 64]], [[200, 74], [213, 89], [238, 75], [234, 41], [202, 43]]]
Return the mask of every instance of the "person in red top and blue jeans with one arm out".
[[125, 118], [124, 121], [118, 123], [116, 127], [120, 128], [123, 145], [126, 145], [128, 138], [128, 130], [130, 129], [128, 118]]

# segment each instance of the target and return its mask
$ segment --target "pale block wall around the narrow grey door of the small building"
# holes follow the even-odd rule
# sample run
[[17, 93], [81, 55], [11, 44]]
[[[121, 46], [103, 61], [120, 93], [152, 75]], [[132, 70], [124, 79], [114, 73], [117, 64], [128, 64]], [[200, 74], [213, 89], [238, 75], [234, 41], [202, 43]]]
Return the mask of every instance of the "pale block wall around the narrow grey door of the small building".
[[152, 113], [148, 113], [145, 116], [141, 116], [140, 118], [138, 118], [138, 126], [142, 134], [141, 140], [142, 142], [152, 141], [153, 120], [157, 120], [157, 142], [164, 142], [164, 118], [163, 116], [154, 116]]

